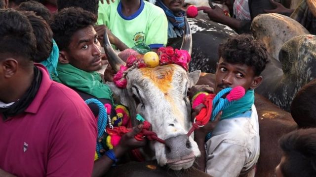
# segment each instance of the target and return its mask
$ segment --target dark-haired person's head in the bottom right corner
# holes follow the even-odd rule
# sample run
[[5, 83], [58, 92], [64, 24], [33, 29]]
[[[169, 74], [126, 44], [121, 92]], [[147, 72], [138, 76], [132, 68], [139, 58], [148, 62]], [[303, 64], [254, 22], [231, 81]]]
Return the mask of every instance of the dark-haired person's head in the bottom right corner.
[[292, 131], [279, 140], [283, 156], [276, 177], [316, 176], [316, 128]]

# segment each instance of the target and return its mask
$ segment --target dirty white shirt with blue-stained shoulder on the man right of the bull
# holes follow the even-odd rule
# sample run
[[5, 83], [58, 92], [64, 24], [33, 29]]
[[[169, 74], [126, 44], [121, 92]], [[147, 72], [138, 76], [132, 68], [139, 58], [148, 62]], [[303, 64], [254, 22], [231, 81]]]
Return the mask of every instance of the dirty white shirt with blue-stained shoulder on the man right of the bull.
[[238, 177], [257, 163], [259, 123], [256, 107], [252, 105], [251, 109], [216, 125], [206, 142], [206, 173], [213, 177]]

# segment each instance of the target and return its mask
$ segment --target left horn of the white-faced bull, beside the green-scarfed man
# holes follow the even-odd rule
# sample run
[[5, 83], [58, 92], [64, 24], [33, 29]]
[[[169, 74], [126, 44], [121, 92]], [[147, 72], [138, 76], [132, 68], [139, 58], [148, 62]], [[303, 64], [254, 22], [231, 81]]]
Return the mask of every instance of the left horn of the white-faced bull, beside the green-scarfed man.
[[108, 61], [112, 69], [115, 72], [118, 72], [120, 66], [121, 65], [125, 66], [126, 63], [121, 58], [118, 57], [117, 53], [112, 48], [107, 30], [104, 31], [103, 43], [104, 43], [105, 54], [107, 55]]

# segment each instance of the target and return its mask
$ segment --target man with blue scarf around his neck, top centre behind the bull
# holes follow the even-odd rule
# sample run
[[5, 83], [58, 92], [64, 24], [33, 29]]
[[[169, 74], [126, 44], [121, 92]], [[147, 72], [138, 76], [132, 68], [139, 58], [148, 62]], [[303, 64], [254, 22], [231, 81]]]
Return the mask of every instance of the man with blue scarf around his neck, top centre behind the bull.
[[168, 19], [168, 38], [182, 37], [184, 16], [182, 6], [184, 0], [157, 0], [156, 5], [164, 11]]

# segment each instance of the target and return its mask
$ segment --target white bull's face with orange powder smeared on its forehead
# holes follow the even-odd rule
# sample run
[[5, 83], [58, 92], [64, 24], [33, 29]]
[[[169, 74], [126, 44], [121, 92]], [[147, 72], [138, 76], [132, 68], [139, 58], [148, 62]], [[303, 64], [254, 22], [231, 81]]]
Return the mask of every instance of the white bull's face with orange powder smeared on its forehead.
[[[153, 142], [158, 164], [173, 170], [191, 167], [200, 155], [197, 143], [187, 137], [191, 123], [191, 104], [187, 91], [196, 84], [200, 72], [187, 72], [178, 65], [133, 69], [127, 76], [127, 88], [113, 88], [120, 101], [129, 107], [131, 118], [142, 115], [166, 144]], [[134, 125], [136, 122], [134, 123]]]

